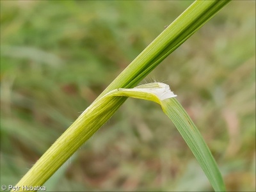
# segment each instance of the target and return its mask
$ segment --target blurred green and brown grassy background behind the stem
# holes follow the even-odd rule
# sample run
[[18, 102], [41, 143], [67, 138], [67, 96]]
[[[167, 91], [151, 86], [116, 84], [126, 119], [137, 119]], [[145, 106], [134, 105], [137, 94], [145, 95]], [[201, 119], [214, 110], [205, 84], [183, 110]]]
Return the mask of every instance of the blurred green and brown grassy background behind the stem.
[[[1, 1], [1, 185], [16, 184], [193, 1]], [[228, 191], [255, 191], [255, 1], [232, 1], [141, 84], [170, 84]], [[161, 108], [128, 99], [47, 191], [211, 191]]]

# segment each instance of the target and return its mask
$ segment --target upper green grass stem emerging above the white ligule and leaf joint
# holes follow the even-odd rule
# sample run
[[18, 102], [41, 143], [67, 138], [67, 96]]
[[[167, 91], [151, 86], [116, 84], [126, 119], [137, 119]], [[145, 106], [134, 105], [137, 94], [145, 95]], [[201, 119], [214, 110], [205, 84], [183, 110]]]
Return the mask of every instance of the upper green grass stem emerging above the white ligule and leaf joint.
[[[96, 100], [111, 90], [136, 86], [230, 1], [195, 1], [140, 53]], [[125, 99], [118, 101], [121, 105]]]

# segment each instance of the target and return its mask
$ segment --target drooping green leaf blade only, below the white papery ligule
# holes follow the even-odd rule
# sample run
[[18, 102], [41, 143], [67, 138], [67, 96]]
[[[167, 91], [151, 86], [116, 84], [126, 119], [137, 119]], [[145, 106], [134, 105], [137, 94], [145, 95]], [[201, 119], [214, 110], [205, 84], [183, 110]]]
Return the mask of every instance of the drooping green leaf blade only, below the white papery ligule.
[[175, 98], [163, 100], [161, 103], [164, 113], [172, 120], [182, 138], [188, 144], [198, 163], [204, 170], [215, 191], [225, 191], [225, 185], [220, 170], [207, 147], [204, 138], [196, 128], [188, 113]]

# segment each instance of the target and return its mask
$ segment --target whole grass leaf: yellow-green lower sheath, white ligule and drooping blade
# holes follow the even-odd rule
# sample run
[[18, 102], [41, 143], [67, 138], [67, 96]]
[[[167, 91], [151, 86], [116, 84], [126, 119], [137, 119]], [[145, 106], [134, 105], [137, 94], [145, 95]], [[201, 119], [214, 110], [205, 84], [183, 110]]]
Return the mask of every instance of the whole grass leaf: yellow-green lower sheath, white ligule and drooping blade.
[[60, 168], [61, 164], [97, 131], [95, 127], [100, 127], [102, 122], [106, 122], [110, 118], [111, 111], [115, 106], [113, 97], [116, 96], [151, 100], [160, 104], [164, 113], [173, 121], [191, 148], [212, 187], [216, 191], [225, 191], [218, 166], [204, 139], [179, 102], [172, 98], [177, 95], [174, 95], [169, 86], [164, 83], [143, 84], [131, 89], [116, 89], [94, 102], [45, 152], [17, 186], [20, 186], [20, 189], [22, 186], [42, 186]]

